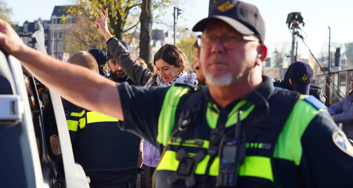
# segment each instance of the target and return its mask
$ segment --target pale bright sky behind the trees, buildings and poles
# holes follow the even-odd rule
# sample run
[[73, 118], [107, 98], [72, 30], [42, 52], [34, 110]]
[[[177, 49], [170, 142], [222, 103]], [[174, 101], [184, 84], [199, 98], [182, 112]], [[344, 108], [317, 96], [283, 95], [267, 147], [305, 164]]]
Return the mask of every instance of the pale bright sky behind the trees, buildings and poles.
[[[33, 21], [41, 17], [49, 19], [55, 5], [74, 4], [73, 0], [5, 0], [9, 7], [13, 8], [12, 20], [22, 24], [25, 20]], [[266, 24], [265, 44], [269, 50], [275, 48], [289, 52], [291, 48], [291, 33], [286, 26], [287, 14], [301, 12], [304, 18], [307, 34], [306, 44], [315, 55], [328, 51], [328, 26], [331, 27], [331, 45], [352, 42], [353, 24], [351, 24], [351, 12], [353, 1], [351, 0], [244, 0], [256, 5]], [[189, 0], [181, 7], [184, 10], [184, 18], [179, 20], [178, 26], [188, 27], [190, 30], [198, 20], [208, 15], [209, 0]], [[163, 21], [172, 25], [173, 7], [168, 8], [169, 16]], [[170, 21], [169, 21], [170, 20]], [[154, 28], [164, 29], [163, 25], [154, 25]], [[305, 35], [304, 35], [305, 36]], [[299, 53], [303, 57], [309, 56], [305, 45], [299, 42]]]

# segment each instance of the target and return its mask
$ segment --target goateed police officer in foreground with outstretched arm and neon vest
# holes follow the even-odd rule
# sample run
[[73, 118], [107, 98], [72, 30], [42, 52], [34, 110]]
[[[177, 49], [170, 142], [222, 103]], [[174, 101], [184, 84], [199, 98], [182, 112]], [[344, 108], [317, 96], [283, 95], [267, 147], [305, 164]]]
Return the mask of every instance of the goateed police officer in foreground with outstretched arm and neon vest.
[[[108, 40], [107, 10], [101, 16], [95, 23]], [[353, 146], [326, 107], [312, 96], [275, 90], [261, 75], [265, 24], [251, 4], [221, 0], [194, 26], [203, 32], [200, 65], [208, 84], [200, 90], [127, 83], [116, 89], [25, 46], [4, 21], [0, 29], [1, 47], [44, 84], [164, 148], [156, 188], [353, 186]], [[133, 58], [127, 51], [124, 57]]]

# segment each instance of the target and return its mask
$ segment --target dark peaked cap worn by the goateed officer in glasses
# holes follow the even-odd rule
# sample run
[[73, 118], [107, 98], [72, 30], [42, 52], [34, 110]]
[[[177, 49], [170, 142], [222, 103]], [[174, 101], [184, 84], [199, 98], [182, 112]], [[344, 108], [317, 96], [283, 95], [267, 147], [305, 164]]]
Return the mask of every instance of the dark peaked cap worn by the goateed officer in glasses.
[[199, 21], [194, 32], [202, 32], [209, 21], [223, 20], [243, 35], [255, 35], [261, 43], [265, 40], [265, 22], [256, 6], [238, 0], [221, 0], [210, 9], [208, 18]]

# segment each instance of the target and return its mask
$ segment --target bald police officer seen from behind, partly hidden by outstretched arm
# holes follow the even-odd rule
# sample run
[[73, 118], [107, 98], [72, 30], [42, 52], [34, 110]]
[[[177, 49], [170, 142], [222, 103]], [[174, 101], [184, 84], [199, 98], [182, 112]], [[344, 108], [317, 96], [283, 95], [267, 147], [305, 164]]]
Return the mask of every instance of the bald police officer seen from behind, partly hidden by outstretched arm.
[[[97, 63], [88, 52], [77, 52], [67, 62], [98, 73]], [[121, 131], [116, 118], [86, 110], [65, 99], [63, 106], [74, 158], [90, 177], [90, 187], [134, 188], [136, 172], [142, 166], [140, 138]]]

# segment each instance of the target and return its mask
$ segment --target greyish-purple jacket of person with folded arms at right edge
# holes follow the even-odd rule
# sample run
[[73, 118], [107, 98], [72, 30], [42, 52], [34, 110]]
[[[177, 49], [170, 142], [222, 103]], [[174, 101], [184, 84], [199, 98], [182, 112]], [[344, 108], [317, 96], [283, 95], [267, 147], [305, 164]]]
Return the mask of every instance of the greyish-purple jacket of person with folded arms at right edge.
[[329, 107], [328, 111], [331, 115], [335, 115], [333, 118], [335, 123], [342, 123], [342, 131], [346, 136], [353, 139], [353, 92]]

